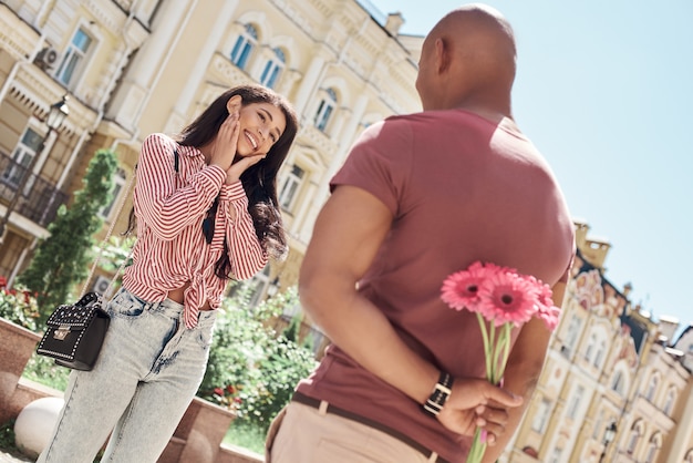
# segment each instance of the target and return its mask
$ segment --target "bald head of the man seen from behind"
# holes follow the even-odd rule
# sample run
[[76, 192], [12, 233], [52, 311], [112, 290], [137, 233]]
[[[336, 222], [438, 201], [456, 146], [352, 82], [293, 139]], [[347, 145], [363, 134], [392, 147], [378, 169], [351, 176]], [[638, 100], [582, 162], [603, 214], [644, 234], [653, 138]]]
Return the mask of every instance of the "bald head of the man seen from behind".
[[424, 110], [469, 104], [509, 115], [515, 37], [508, 21], [485, 4], [447, 13], [426, 37], [416, 89]]

